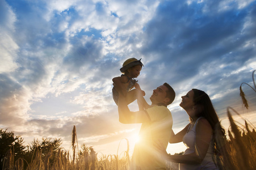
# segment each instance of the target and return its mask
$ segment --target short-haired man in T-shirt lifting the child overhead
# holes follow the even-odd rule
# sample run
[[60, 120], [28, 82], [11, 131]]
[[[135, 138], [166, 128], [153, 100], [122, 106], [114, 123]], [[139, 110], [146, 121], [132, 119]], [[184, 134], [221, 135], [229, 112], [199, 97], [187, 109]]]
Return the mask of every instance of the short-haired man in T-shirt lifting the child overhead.
[[[138, 91], [139, 97], [144, 99]], [[167, 105], [173, 103], [175, 92], [167, 83], [153, 90], [150, 97], [152, 105], [145, 110], [131, 112], [123, 95], [119, 95], [118, 112], [119, 121], [123, 124], [142, 123], [140, 141], [136, 143], [133, 151], [131, 169], [166, 169], [165, 160], [154, 147], [155, 142], [163, 143], [166, 148], [171, 136], [173, 118]], [[144, 99], [145, 100], [145, 99]], [[139, 104], [139, 103], [138, 103]], [[142, 106], [139, 105], [139, 108]]]

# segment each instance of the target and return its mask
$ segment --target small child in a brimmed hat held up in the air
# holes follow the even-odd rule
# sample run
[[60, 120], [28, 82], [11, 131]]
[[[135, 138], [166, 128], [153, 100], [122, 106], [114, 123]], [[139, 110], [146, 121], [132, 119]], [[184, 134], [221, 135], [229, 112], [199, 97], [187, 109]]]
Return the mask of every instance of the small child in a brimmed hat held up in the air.
[[[116, 104], [118, 103], [119, 93], [121, 93], [126, 97], [127, 104], [130, 104], [137, 99], [138, 92], [141, 92], [142, 96], [145, 96], [145, 92], [141, 90], [140, 85], [134, 79], [140, 75], [142, 66], [144, 66], [140, 60], [136, 58], [127, 59], [123, 63], [123, 67], [121, 67], [120, 69], [121, 73], [124, 73], [124, 74], [112, 79], [114, 82], [113, 83], [114, 87], [112, 88], [112, 94]], [[135, 87], [136, 89], [132, 90], [133, 87]], [[146, 103], [144, 97], [140, 97], [140, 101], [144, 108], [149, 106]]]

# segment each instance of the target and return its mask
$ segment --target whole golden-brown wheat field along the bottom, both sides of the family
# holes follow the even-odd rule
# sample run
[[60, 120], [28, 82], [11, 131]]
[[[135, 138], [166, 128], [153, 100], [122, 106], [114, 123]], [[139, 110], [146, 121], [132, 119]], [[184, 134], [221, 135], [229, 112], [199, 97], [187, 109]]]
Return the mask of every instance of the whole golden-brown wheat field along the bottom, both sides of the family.
[[[216, 133], [217, 143], [221, 146], [219, 152], [221, 154], [215, 155], [217, 164], [220, 169], [256, 169], [256, 132], [255, 127], [245, 120], [245, 126], [240, 127], [236, 125], [233, 120], [230, 110], [228, 108], [227, 114], [230, 122], [230, 129], [227, 136], [229, 139], [223, 138], [223, 135]], [[237, 112], [236, 112], [237, 113]], [[238, 113], [237, 113], [238, 114]], [[216, 127], [219, 128], [219, 127]], [[218, 131], [218, 130], [216, 130]], [[116, 155], [98, 155], [93, 147], [81, 146], [81, 150], [78, 150], [78, 143], [76, 137], [75, 126], [72, 132], [72, 148], [73, 154], [70, 155], [69, 151], [59, 149], [57, 156], [54, 156], [52, 162], [49, 162], [53, 151], [51, 148], [48, 153], [43, 155], [40, 149], [36, 149], [33, 153], [32, 160], [28, 163], [26, 160], [19, 158], [14, 162], [14, 147], [6, 154], [3, 169], [39, 169], [39, 170], [51, 170], [51, 169], [110, 169], [110, 170], [123, 170], [130, 169], [130, 156], [129, 141], [127, 141], [127, 151], [123, 151]], [[219, 135], [219, 136], [218, 136]], [[75, 138], [73, 138], [75, 136]], [[75, 140], [74, 140], [75, 139]], [[77, 147], [77, 148], [76, 148]], [[75, 154], [74, 154], [75, 153]], [[166, 163], [166, 169], [178, 169], [178, 164]]]

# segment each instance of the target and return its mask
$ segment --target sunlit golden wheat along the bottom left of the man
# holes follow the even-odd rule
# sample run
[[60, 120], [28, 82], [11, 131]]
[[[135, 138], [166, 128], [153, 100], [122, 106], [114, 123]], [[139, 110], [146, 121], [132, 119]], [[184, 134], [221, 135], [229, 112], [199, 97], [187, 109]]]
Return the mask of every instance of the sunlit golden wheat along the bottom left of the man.
[[74, 126], [72, 130], [72, 155], [70, 155], [69, 151], [65, 151], [60, 148], [57, 152], [57, 156], [54, 156], [53, 161], [50, 162], [50, 158], [53, 155], [52, 149], [50, 148], [46, 154], [42, 154], [40, 148], [36, 148], [33, 152], [30, 163], [23, 158], [19, 158], [14, 163], [14, 154], [12, 154], [14, 153], [14, 147], [11, 147], [11, 149], [6, 153], [3, 169], [129, 169], [129, 141], [128, 139], [125, 140], [127, 141], [127, 151], [121, 152], [120, 155], [98, 156], [93, 147], [87, 147], [85, 144], [81, 146], [81, 150], [78, 150], [77, 133]]

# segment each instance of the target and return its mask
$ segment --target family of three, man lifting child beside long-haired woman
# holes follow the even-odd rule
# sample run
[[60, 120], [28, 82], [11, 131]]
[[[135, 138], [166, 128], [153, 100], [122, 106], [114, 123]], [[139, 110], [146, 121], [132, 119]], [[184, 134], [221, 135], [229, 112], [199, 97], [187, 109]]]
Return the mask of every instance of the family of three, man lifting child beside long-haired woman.
[[[215, 126], [220, 125], [220, 121], [209, 96], [196, 89], [182, 96], [179, 105], [187, 112], [190, 123], [174, 134], [173, 117], [167, 105], [173, 103], [175, 91], [168, 83], [163, 83], [153, 90], [150, 96], [152, 104], [146, 103], [145, 92], [135, 80], [143, 66], [141, 59], [129, 58], [120, 69], [123, 74], [112, 79], [112, 94], [118, 106], [119, 121], [141, 124], [140, 141], [135, 145], [130, 169], [166, 169], [166, 160], [179, 163], [181, 170], [219, 169], [213, 158], [219, 147]], [[135, 100], [139, 111], [131, 112], [128, 104]], [[224, 135], [224, 129], [220, 131]], [[178, 142], [186, 145], [184, 154], [167, 154], [168, 143]]]

